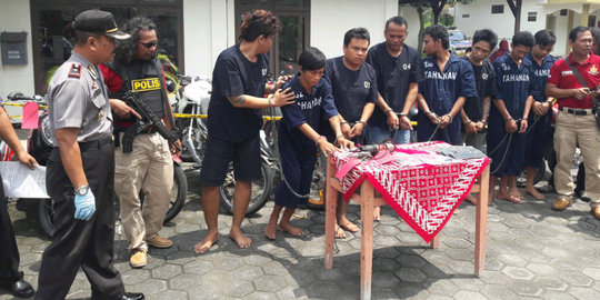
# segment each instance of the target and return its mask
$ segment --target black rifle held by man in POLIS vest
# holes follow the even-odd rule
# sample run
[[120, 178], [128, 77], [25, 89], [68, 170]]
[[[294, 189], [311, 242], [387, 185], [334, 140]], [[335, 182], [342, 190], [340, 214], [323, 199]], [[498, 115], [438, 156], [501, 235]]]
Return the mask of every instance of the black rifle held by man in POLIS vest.
[[123, 97], [124, 102], [134, 109], [142, 118], [137, 119], [136, 123], [129, 127], [123, 133], [122, 138], [122, 150], [123, 153], [129, 153], [133, 150], [133, 138], [139, 134], [144, 128], [152, 127], [157, 132], [172, 143], [178, 151], [181, 151], [181, 148], [177, 146], [176, 141], [179, 139], [178, 134], [173, 131], [170, 131], [164, 123], [160, 120], [157, 114], [148, 108], [148, 106], [138, 98], [138, 93], [133, 91], [126, 92]]

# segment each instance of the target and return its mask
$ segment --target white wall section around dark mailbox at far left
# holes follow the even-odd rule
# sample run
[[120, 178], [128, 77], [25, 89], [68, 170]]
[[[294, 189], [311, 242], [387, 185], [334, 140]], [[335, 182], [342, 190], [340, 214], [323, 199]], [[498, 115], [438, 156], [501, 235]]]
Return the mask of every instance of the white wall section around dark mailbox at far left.
[[[29, 0], [0, 0], [0, 31], [27, 32], [27, 64], [3, 66], [0, 61], [0, 97], [11, 91], [33, 94], [33, 53]], [[12, 113], [9, 109], [9, 113]]]

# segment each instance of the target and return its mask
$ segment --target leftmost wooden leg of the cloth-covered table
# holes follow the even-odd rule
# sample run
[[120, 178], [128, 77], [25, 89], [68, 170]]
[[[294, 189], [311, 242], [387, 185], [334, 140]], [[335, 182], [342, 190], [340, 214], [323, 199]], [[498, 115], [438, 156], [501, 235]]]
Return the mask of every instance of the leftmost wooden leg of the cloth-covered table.
[[326, 269], [333, 268], [333, 246], [336, 243], [336, 207], [338, 204], [338, 191], [330, 184], [329, 179], [336, 174], [336, 167], [331, 156], [327, 158], [326, 182]]

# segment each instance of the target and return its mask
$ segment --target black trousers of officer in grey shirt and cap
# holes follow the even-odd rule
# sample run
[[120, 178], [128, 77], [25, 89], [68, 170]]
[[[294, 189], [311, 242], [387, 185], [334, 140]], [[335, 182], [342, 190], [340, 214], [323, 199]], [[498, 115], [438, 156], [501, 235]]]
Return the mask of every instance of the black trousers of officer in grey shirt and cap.
[[88, 221], [74, 219], [74, 192], [58, 148], [47, 166], [46, 186], [53, 200], [56, 231], [43, 251], [36, 299], [64, 299], [79, 267], [91, 284], [92, 299], [124, 294], [119, 271], [112, 266], [114, 242], [114, 147], [104, 143], [82, 150], [88, 183], [96, 197], [96, 213]]

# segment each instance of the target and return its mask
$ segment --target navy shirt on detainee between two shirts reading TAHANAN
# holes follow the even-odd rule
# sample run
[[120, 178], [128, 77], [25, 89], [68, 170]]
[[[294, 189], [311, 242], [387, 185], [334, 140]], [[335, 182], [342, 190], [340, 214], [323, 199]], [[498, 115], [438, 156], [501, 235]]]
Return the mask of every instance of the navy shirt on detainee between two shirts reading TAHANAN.
[[483, 99], [496, 96], [496, 72], [489, 60], [483, 60], [481, 66], [473, 64], [469, 58], [463, 57], [473, 68], [473, 77], [477, 87], [477, 97], [467, 98], [462, 107], [470, 120], [477, 122], [483, 117]]

